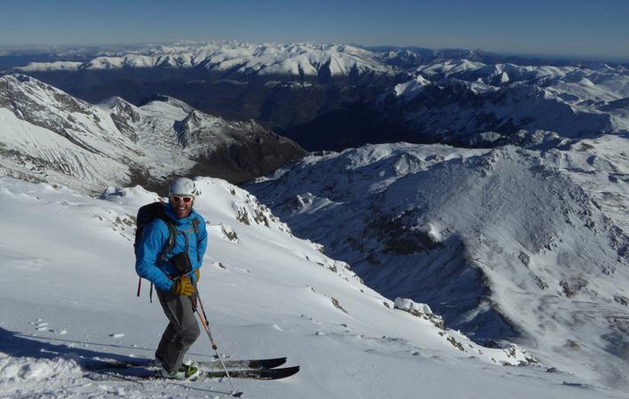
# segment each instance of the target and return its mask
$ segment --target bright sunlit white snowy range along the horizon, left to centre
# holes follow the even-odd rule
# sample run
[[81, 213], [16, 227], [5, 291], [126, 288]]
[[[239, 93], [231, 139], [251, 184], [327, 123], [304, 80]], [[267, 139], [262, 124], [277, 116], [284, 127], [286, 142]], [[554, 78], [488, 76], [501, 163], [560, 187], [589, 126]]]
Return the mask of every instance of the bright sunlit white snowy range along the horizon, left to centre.
[[104, 53], [87, 62], [32, 62], [21, 72], [124, 68], [203, 68], [243, 75], [349, 76], [394, 73], [377, 53], [348, 44], [247, 44], [212, 41]]

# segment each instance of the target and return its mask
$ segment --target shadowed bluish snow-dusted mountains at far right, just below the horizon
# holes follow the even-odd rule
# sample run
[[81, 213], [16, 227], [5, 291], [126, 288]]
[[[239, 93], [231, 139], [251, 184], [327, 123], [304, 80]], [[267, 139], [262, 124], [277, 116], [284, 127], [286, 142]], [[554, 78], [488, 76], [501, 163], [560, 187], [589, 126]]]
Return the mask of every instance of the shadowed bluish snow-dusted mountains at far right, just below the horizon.
[[430, 140], [487, 147], [518, 143], [522, 130], [563, 138], [629, 131], [624, 67], [447, 60], [416, 73], [384, 96], [381, 112]]

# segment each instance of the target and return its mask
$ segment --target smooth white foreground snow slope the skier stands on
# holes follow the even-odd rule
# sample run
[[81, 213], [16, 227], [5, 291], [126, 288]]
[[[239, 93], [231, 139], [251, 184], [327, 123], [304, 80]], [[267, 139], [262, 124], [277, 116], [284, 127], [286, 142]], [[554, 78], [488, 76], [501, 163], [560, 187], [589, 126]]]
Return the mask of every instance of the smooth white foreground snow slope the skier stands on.
[[[94, 199], [48, 184], [0, 182], [3, 397], [221, 397], [229, 391], [225, 380], [94, 380], [81, 367], [93, 358], [153, 355], [165, 318], [148, 302], [146, 283], [142, 298], [135, 297], [131, 215], [155, 194], [111, 188]], [[287, 355], [289, 365], [302, 367], [282, 381], [236, 380], [244, 397], [624, 395], [546, 366], [501, 365], [522, 363], [525, 355], [444, 331], [426, 306], [397, 301], [419, 316], [394, 309], [345, 263], [293, 237], [255, 197], [222, 180], [196, 182], [203, 193], [196, 207], [210, 231], [200, 290], [220, 349], [232, 358]], [[205, 337], [191, 354], [209, 358]]]

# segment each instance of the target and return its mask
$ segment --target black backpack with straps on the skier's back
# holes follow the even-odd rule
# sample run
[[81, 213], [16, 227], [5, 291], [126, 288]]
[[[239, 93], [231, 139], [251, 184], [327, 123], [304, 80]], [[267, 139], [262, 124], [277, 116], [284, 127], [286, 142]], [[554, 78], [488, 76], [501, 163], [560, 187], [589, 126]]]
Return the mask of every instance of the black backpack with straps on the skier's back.
[[[142, 238], [142, 231], [144, 230], [144, 227], [147, 227], [147, 225], [155, 219], [162, 219], [163, 222], [166, 223], [166, 226], [168, 226], [169, 235], [168, 241], [164, 243], [162, 251], [160, 251], [159, 255], [157, 256], [157, 265], [163, 264], [166, 254], [172, 251], [172, 249], [175, 247], [178, 233], [177, 227], [172, 224], [171, 219], [169, 219], [169, 217], [166, 216], [166, 214], [163, 212], [164, 205], [165, 203], [155, 202], [147, 203], [146, 205], [143, 205], [139, 208], [138, 216], [136, 217], [135, 241], [133, 242], [133, 250], [135, 251], [135, 255], [137, 257], [139, 240]], [[199, 233], [199, 220], [196, 218], [193, 219], [192, 226], [195, 228], [195, 235], [197, 235]], [[139, 277], [137, 294], [138, 297], [141, 284], [142, 277]], [[151, 302], [153, 302], [153, 283], [151, 283], [149, 298]]]

